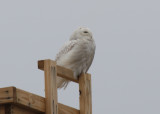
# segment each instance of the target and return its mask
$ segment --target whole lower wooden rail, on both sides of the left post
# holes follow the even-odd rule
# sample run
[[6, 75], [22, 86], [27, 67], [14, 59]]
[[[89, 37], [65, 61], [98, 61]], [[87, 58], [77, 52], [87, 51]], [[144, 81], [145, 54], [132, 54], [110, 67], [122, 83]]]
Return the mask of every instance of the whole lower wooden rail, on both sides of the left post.
[[[0, 105], [16, 104], [45, 113], [45, 98], [15, 87], [0, 88]], [[58, 103], [58, 114], [80, 114], [80, 111]]]

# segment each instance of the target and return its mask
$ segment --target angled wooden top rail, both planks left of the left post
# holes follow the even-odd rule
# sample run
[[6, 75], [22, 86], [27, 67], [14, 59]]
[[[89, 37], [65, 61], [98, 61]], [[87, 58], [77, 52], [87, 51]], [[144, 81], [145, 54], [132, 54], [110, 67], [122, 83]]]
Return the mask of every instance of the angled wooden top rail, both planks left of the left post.
[[0, 104], [7, 103], [15, 103], [39, 112], [45, 112], [45, 99], [43, 97], [15, 87], [0, 88]]

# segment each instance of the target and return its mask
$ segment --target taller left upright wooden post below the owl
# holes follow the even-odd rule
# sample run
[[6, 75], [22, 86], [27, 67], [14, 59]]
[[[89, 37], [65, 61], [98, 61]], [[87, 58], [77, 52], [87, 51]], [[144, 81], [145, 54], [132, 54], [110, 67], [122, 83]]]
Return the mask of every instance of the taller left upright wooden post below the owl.
[[46, 114], [58, 114], [56, 62], [44, 60]]

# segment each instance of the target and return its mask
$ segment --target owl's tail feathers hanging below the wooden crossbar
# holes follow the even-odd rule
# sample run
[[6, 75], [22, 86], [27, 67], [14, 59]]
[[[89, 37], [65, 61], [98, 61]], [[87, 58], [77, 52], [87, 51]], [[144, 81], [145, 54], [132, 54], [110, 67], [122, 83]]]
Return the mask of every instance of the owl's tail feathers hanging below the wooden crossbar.
[[61, 77], [57, 77], [57, 88], [66, 88], [68, 86], [69, 80]]

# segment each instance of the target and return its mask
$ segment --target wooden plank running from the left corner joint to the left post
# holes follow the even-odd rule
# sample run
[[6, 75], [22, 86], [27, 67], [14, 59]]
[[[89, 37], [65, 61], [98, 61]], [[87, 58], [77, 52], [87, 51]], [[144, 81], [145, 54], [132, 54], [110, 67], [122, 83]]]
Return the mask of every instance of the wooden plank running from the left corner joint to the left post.
[[45, 99], [32, 93], [16, 89], [16, 103], [32, 108], [34, 110], [45, 112]]

